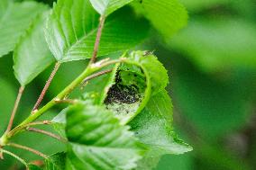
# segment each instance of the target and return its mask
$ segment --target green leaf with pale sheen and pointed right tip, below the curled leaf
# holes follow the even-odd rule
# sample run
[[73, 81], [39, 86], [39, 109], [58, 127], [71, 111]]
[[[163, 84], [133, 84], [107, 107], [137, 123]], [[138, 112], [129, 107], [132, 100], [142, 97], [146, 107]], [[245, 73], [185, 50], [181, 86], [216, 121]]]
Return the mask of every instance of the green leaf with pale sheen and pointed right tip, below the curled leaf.
[[135, 136], [150, 148], [138, 169], [157, 166], [163, 155], [183, 154], [192, 150], [173, 131], [172, 104], [165, 90], [151, 97], [144, 110], [129, 125]]

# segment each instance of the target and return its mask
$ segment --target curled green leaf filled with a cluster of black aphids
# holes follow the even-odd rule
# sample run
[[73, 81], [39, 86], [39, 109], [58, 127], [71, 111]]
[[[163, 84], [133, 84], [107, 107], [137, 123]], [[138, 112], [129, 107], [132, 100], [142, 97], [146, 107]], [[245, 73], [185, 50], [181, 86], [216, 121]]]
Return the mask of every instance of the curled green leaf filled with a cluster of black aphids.
[[142, 112], [150, 96], [163, 90], [169, 81], [167, 70], [146, 51], [134, 51], [126, 58], [105, 85], [102, 100], [123, 124]]

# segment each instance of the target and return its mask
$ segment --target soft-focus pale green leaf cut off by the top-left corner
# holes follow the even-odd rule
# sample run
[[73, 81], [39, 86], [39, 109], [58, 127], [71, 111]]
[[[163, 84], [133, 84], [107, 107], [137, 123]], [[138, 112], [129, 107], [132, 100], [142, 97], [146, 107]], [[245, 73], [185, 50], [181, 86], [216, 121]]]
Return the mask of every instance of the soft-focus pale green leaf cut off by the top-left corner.
[[14, 49], [32, 20], [46, 9], [46, 5], [36, 2], [13, 3], [1, 0], [0, 58]]

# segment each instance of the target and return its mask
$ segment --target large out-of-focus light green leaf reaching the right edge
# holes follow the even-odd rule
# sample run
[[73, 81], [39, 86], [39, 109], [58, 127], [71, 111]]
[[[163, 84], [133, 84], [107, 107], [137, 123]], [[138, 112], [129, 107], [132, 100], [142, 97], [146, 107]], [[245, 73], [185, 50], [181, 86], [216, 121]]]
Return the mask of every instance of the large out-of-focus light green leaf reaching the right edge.
[[256, 67], [256, 25], [233, 18], [191, 20], [186, 29], [170, 40], [205, 72]]

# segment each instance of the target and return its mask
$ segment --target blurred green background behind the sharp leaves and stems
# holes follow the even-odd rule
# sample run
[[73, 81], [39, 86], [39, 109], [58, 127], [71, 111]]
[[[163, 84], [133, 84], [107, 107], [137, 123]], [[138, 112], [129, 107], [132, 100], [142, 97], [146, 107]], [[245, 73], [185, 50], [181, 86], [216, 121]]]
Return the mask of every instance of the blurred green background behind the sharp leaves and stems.
[[[44, 0], [52, 4], [51, 0]], [[256, 1], [180, 0], [187, 7], [187, 27], [167, 42], [157, 33], [142, 49], [154, 50], [169, 70], [169, 94], [174, 105], [174, 126], [194, 150], [164, 156], [156, 170], [254, 170], [256, 169]], [[0, 58], [0, 132], [5, 130], [18, 83], [13, 75], [12, 54]], [[51, 66], [28, 86], [19, 122], [34, 104]], [[78, 75], [84, 61], [65, 64], [50, 85], [46, 100]], [[72, 71], [70, 71], [72, 68]], [[27, 111], [27, 112], [24, 112]], [[51, 114], [56, 114], [54, 110]], [[43, 118], [42, 118], [43, 119]], [[61, 149], [41, 135], [17, 136], [44, 153]], [[38, 142], [40, 141], [40, 142]], [[56, 146], [56, 147], [55, 147]], [[18, 153], [36, 159], [31, 154]], [[0, 169], [15, 167], [6, 157]], [[8, 167], [8, 168], [7, 168]]]

